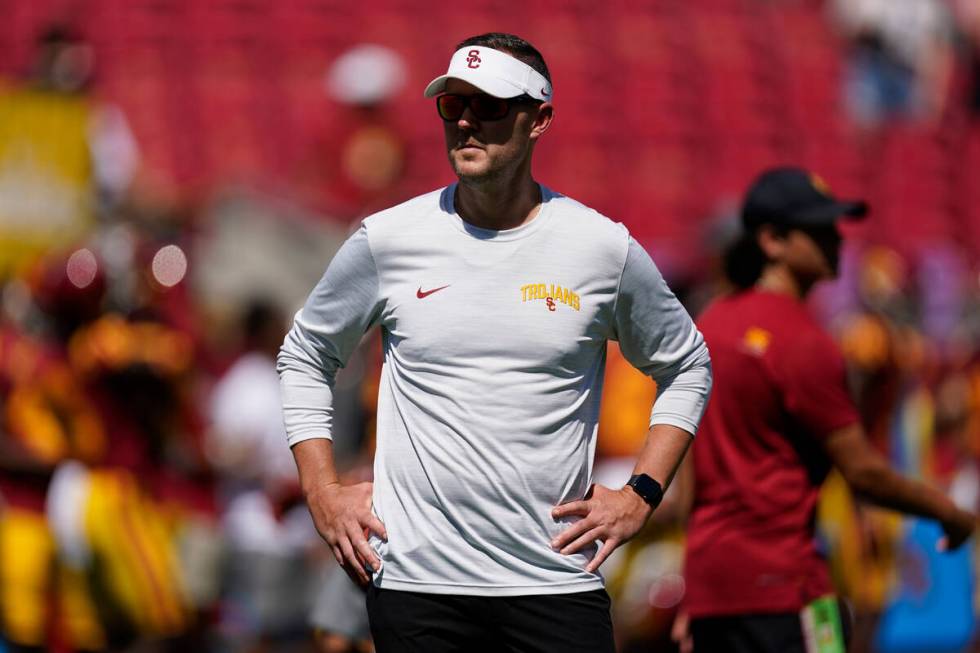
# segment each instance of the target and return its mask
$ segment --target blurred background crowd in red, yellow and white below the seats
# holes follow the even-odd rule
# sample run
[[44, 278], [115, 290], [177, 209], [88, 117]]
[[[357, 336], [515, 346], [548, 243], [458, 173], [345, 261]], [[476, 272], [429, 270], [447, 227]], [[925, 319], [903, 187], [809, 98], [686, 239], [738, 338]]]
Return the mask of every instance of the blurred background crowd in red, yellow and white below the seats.
[[[825, 4], [848, 48], [855, 138], [939, 120], [951, 98], [980, 120], [980, 2]], [[332, 62], [339, 117], [288, 194], [215, 188], [194, 204], [146, 183], [127, 116], [91, 92], [95, 65], [82, 35], [53, 26], [29, 74], [0, 83], [0, 651], [370, 651], [299, 492], [275, 355], [349, 226], [411, 194], [388, 105], [406, 64], [370, 44]], [[697, 272], [671, 280], [695, 315], [728, 289], [735, 219], [722, 213], [703, 220]], [[814, 310], [865, 427], [898, 468], [978, 510], [975, 253], [851, 235]], [[337, 382], [351, 480], [371, 476], [380, 361], [368, 334]], [[628, 478], [655, 392], [610, 351], [597, 482]], [[603, 568], [623, 651], [672, 650], [693, 482], [682, 470]], [[935, 554], [928, 525], [833, 478], [820, 514], [854, 650], [971, 645], [975, 551]]]

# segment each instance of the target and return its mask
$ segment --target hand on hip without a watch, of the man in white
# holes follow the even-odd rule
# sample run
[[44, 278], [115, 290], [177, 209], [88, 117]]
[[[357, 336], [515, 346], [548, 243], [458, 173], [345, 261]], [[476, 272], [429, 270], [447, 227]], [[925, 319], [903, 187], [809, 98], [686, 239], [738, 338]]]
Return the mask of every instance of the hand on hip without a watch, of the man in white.
[[347, 575], [359, 585], [371, 580], [366, 565], [374, 571], [381, 570], [381, 560], [368, 544], [367, 534], [374, 532], [381, 539], [388, 539], [384, 524], [371, 511], [372, 489], [372, 483], [327, 483], [306, 493], [317, 532], [330, 545]]

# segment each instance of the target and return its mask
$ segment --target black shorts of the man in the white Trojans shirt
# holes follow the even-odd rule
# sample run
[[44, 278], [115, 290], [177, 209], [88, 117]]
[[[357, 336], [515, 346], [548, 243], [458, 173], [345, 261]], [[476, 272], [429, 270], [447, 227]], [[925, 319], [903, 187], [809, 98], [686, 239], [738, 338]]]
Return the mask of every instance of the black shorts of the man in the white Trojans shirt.
[[605, 590], [459, 596], [367, 590], [377, 653], [615, 653]]

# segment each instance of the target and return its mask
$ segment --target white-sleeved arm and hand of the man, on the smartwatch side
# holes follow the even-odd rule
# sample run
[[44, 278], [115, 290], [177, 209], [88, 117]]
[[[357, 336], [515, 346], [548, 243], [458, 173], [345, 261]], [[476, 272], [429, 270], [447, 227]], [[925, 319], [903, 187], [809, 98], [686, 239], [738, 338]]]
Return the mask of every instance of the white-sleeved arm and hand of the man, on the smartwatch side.
[[[657, 382], [650, 431], [634, 474], [646, 474], [667, 490], [694, 438], [711, 391], [711, 362], [704, 338], [667, 287], [650, 256], [632, 238], [615, 307], [614, 337], [626, 359]], [[552, 541], [564, 555], [602, 540], [586, 567], [595, 571], [643, 527], [651, 508], [631, 487], [595, 485], [581, 501], [557, 506], [554, 518], [577, 515]]]

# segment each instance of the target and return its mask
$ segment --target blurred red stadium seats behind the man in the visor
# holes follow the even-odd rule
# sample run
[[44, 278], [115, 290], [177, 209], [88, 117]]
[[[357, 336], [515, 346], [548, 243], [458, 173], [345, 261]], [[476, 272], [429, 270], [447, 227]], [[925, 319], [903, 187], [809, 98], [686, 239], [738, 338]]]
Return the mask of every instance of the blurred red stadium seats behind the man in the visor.
[[[156, 174], [188, 192], [246, 180], [288, 188], [311, 130], [336, 108], [329, 62], [360, 42], [406, 58], [397, 120], [410, 186], [449, 180], [421, 89], [461, 37], [540, 45], [557, 122], [541, 181], [626, 222], [670, 265], [696, 264], [703, 227], [764, 165], [800, 162], [899, 248], [953, 238], [980, 251], [980, 125], [858, 135], [840, 103], [845, 48], [820, 2], [754, 0], [0, 0], [0, 72], [27, 66], [48, 21], [96, 49], [97, 93], [118, 102]], [[971, 183], [971, 179], [973, 180]]]

